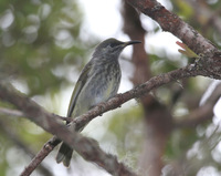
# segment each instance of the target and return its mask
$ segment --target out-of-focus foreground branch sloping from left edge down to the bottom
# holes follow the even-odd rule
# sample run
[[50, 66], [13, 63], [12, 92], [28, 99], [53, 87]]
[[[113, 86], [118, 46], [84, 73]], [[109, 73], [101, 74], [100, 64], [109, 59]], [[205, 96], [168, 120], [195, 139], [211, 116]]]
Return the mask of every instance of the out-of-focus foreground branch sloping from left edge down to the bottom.
[[[113, 155], [104, 153], [98, 144], [92, 139], [83, 137], [75, 131], [67, 130], [64, 125], [57, 123], [53, 114], [49, 114], [30, 99], [15, 92], [9, 84], [0, 83], [0, 99], [15, 105], [27, 117], [49, 133], [56, 135], [81, 154], [87, 161], [96, 163], [113, 175], [135, 176], [125, 165], [119, 163]], [[46, 146], [49, 147], [49, 146]], [[49, 149], [51, 151], [51, 148]], [[33, 172], [33, 170], [31, 170]], [[24, 172], [22, 176], [30, 175]]]

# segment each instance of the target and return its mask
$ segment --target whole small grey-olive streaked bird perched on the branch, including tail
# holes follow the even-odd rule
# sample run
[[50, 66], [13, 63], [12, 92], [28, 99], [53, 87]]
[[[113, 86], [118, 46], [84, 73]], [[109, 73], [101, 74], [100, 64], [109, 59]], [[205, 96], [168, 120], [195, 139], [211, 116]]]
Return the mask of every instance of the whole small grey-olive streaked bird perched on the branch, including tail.
[[[91, 61], [84, 66], [76, 82], [67, 117], [77, 117], [117, 94], [122, 77], [119, 54], [124, 48], [136, 43], [140, 41], [122, 42], [110, 38], [96, 46]], [[69, 167], [72, 153], [72, 147], [62, 143], [56, 162], [63, 162], [64, 166]]]

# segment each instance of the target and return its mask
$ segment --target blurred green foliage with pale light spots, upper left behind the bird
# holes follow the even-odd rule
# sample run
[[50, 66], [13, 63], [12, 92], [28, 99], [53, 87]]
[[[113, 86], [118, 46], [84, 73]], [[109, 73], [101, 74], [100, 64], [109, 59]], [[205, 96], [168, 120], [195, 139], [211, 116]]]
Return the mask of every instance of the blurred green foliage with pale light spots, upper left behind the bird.
[[29, 96], [57, 91], [69, 65], [84, 63], [82, 12], [75, 1], [1, 1], [1, 79], [15, 80]]

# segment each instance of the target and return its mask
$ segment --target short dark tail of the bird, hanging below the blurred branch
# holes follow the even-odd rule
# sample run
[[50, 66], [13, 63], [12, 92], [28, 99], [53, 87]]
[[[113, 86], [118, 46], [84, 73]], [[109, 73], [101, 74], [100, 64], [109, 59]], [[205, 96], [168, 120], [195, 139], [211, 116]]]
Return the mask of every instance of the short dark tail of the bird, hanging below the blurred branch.
[[62, 143], [56, 155], [56, 163], [63, 162], [64, 166], [69, 167], [72, 158], [73, 149], [65, 143]]

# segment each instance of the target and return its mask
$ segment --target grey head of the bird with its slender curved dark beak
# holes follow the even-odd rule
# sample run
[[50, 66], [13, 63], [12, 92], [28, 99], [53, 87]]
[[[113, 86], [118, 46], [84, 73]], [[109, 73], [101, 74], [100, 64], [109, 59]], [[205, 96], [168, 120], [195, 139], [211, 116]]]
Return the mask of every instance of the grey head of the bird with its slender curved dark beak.
[[118, 58], [120, 52], [130, 44], [141, 43], [140, 41], [128, 41], [122, 42], [114, 38], [107, 39], [99, 43], [94, 52], [94, 56], [104, 56], [104, 58]]

